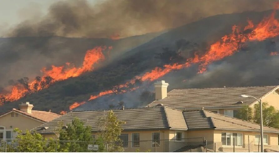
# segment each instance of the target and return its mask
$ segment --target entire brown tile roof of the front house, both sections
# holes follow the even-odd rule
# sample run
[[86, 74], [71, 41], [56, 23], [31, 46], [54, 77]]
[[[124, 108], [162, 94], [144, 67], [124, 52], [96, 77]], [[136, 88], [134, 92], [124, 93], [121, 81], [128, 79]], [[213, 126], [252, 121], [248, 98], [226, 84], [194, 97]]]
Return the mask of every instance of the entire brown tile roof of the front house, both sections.
[[[91, 131], [99, 131], [98, 121], [106, 116], [108, 110], [95, 111], [72, 111], [62, 115], [48, 123], [42, 124], [31, 131], [37, 133], [52, 134], [59, 122], [71, 124], [76, 117], [80, 119], [84, 126], [90, 125]], [[243, 130], [258, 131], [259, 124], [254, 124], [241, 119], [216, 114], [206, 110], [180, 111], [164, 106], [149, 108], [113, 110], [117, 119], [125, 122], [122, 124], [124, 131], [131, 130], [162, 130], [162, 129], [223, 129], [223, 130]], [[45, 127], [47, 129], [42, 130]], [[264, 126], [264, 132], [279, 133], [279, 129]]]

